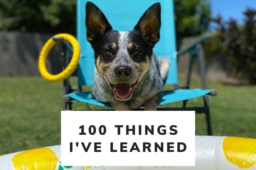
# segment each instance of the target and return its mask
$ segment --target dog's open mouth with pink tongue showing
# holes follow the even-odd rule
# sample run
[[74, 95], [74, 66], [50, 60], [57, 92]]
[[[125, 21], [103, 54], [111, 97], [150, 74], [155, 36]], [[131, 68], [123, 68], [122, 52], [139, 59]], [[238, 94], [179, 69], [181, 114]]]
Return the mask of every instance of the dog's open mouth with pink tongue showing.
[[[109, 82], [111, 88], [114, 90], [114, 93], [116, 97], [120, 100], [124, 100], [126, 98], [129, 98], [131, 95], [131, 91], [134, 88], [135, 85], [138, 84], [138, 80], [134, 83], [119, 83], [119, 84], [112, 84]], [[126, 99], [127, 100], [127, 99]]]

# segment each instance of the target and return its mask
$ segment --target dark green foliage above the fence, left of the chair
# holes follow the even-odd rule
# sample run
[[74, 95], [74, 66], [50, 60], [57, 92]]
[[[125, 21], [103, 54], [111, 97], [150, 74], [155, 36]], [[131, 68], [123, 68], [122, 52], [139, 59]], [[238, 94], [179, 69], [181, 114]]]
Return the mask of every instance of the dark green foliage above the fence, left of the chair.
[[76, 0], [0, 0], [0, 30], [76, 32]]

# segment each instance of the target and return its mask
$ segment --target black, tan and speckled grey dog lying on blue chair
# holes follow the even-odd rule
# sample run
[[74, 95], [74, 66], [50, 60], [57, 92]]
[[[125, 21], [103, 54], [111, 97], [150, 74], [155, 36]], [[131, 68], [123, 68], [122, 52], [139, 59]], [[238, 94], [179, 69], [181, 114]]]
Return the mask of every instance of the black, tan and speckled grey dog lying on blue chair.
[[92, 98], [114, 110], [142, 105], [155, 111], [163, 93], [170, 61], [159, 60], [153, 47], [160, 39], [161, 5], [150, 6], [132, 31], [115, 31], [103, 12], [86, 3], [86, 36], [95, 57]]

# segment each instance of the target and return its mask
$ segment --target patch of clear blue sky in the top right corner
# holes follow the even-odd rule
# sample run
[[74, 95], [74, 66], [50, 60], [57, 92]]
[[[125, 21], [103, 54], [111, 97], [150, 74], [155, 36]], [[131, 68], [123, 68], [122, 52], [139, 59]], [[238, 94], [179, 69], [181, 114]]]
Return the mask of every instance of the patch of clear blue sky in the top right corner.
[[228, 21], [230, 17], [243, 23], [243, 12], [247, 7], [256, 10], [256, 0], [211, 0], [212, 17], [221, 14], [224, 21]]

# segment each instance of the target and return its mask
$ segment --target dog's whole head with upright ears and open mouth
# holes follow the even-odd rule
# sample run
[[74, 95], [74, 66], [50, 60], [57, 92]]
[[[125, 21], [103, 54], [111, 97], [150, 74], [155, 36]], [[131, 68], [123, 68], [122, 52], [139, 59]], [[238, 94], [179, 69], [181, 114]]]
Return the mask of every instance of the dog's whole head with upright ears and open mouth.
[[152, 49], [160, 38], [160, 16], [160, 3], [155, 3], [132, 31], [114, 31], [102, 11], [86, 3], [87, 41], [94, 49], [97, 70], [117, 100], [129, 100], [148, 71]]

